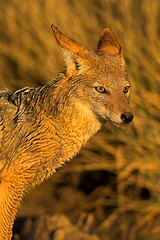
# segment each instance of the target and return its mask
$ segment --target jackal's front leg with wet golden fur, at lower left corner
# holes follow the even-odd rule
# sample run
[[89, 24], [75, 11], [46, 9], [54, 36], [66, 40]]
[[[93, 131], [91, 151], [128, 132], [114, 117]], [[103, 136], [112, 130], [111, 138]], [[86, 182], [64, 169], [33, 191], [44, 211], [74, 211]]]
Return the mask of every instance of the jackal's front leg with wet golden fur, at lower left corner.
[[0, 240], [10, 240], [12, 227], [26, 185], [17, 176], [0, 177]]

